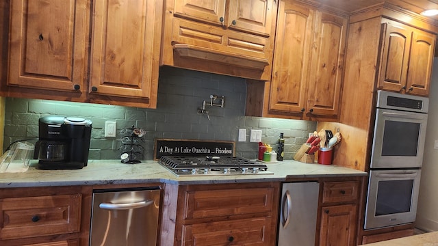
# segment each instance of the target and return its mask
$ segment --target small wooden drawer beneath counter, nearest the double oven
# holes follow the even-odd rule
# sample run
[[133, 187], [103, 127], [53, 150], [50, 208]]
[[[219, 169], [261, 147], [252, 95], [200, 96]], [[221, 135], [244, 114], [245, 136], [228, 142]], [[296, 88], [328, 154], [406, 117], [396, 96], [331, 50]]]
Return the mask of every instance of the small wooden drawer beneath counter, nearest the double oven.
[[322, 202], [354, 202], [359, 197], [359, 181], [324, 182]]

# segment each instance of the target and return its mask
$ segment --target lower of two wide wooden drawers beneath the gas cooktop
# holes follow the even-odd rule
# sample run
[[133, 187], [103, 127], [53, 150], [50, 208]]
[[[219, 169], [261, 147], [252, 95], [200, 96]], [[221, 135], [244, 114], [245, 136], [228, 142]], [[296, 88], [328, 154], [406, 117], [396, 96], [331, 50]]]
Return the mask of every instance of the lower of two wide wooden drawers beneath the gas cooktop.
[[270, 245], [271, 219], [239, 219], [183, 226], [183, 245]]

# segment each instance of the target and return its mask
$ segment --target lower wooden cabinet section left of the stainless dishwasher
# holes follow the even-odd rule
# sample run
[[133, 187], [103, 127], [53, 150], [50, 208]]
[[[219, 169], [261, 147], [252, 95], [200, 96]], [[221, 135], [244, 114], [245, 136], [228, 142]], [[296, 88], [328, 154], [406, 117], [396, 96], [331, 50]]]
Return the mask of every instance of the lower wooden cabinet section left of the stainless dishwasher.
[[85, 187], [3, 189], [0, 244], [85, 245], [80, 242], [88, 243], [88, 232], [81, 231], [81, 217], [82, 211], [90, 208], [87, 200]]

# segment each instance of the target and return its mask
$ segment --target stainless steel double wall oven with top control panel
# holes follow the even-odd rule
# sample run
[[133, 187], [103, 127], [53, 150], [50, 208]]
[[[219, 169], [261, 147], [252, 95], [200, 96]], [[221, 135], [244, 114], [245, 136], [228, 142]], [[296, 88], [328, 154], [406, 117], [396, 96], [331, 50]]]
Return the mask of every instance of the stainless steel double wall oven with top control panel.
[[428, 98], [378, 91], [365, 229], [415, 221]]

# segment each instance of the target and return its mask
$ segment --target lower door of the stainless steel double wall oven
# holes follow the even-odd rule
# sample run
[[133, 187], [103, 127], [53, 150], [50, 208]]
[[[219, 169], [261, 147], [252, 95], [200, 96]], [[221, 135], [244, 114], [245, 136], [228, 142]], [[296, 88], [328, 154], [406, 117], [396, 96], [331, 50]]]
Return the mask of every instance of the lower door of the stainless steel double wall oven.
[[415, 221], [420, 169], [370, 171], [365, 229]]

